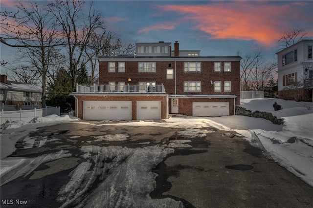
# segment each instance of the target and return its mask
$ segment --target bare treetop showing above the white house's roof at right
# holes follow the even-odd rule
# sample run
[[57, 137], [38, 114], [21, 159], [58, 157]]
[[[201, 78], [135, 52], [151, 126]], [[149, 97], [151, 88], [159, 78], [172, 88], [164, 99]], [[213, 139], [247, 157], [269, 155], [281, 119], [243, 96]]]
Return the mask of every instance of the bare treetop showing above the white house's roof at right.
[[292, 28], [290, 31], [284, 33], [282, 37], [279, 38], [278, 43], [280, 50], [288, 48], [289, 46], [306, 39], [306, 35], [308, 33], [305, 32], [304, 29], [300, 28]]

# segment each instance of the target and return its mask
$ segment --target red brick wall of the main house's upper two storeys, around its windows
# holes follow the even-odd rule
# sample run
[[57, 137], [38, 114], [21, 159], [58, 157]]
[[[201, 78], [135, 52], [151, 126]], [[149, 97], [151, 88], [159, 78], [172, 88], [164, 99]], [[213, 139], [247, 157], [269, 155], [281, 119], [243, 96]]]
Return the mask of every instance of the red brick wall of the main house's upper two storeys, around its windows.
[[[174, 59], [173, 59], [174, 60]], [[122, 61], [122, 60], [121, 60]], [[166, 69], [174, 69], [175, 61], [156, 61], [156, 72], [138, 72], [138, 63], [142, 61], [125, 61], [125, 72], [118, 72], [118, 61], [115, 61], [115, 72], [109, 72], [109, 61], [99, 61], [99, 84], [109, 82], [125, 82], [125, 84], [138, 84], [138, 82], [156, 82], [163, 84], [166, 93], [175, 94], [175, 80], [166, 79]], [[147, 60], [148, 62], [148, 60]], [[151, 58], [149, 62], [154, 62]], [[231, 72], [224, 72], [224, 61], [216, 58], [216, 61], [201, 62], [201, 72], [184, 72], [184, 62], [176, 61], [176, 94], [177, 95], [216, 95], [233, 94], [236, 95], [236, 105], [240, 104], [240, 61], [230, 61]], [[186, 61], [191, 62], [191, 61]], [[214, 72], [214, 62], [222, 62], [222, 72]], [[227, 61], [229, 62], [229, 61]], [[131, 79], [128, 82], [128, 79]], [[184, 92], [184, 82], [201, 82], [201, 92]], [[214, 92], [214, 84], [211, 81], [221, 82], [221, 92]], [[224, 92], [224, 82], [231, 82], [231, 92]]]

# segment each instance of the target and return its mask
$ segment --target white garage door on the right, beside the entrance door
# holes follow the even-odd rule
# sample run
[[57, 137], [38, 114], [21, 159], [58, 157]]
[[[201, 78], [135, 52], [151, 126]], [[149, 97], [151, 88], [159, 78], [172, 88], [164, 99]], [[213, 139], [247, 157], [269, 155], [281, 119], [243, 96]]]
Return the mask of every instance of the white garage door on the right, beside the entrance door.
[[229, 102], [193, 102], [193, 116], [229, 116]]

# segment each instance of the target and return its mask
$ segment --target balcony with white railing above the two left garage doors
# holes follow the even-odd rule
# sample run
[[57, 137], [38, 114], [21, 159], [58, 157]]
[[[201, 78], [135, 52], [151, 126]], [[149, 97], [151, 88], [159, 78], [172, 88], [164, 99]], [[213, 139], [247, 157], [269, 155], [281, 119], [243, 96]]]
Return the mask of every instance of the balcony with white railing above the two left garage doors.
[[76, 93], [165, 93], [163, 84], [76, 84]]

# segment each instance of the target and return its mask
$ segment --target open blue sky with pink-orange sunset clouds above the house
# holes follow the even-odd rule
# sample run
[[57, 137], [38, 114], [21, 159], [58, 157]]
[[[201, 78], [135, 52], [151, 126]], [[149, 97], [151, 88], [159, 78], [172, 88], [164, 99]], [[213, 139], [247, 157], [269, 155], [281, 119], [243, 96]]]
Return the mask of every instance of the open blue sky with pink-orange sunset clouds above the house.
[[[0, 4], [3, 11], [15, 2]], [[275, 59], [278, 39], [291, 29], [305, 29], [313, 39], [313, 1], [96, 0], [95, 5], [108, 28], [128, 42], [179, 41], [181, 50], [201, 50], [201, 56], [262, 49]]]

